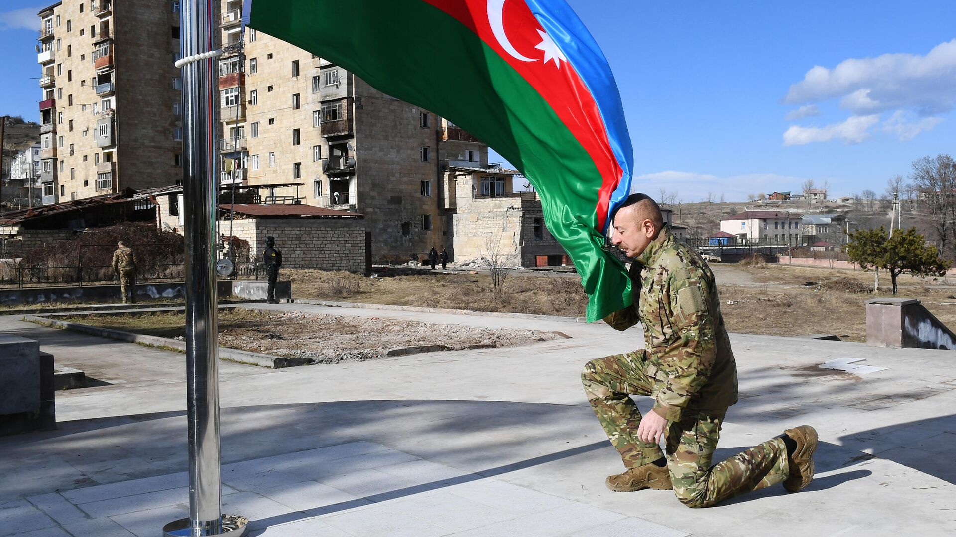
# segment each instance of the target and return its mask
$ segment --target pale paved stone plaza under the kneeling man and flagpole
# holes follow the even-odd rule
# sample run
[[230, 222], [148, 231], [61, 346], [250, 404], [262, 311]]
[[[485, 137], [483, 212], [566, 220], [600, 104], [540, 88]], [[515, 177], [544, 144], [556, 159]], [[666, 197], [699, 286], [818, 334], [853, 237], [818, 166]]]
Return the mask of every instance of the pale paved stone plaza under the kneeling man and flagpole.
[[[261, 306], [259, 306], [261, 308]], [[862, 307], [862, 306], [861, 306]], [[250, 535], [947, 535], [956, 531], [956, 356], [732, 334], [740, 402], [718, 459], [809, 423], [816, 479], [708, 509], [614, 493], [622, 469], [580, 388], [641, 346], [599, 323], [282, 304], [570, 339], [268, 370], [221, 362], [223, 509]], [[57, 394], [56, 431], [0, 438], [0, 535], [155, 536], [185, 517], [185, 355], [0, 317], [104, 385]], [[888, 368], [853, 376], [842, 357]], [[639, 399], [641, 407], [649, 399]]]

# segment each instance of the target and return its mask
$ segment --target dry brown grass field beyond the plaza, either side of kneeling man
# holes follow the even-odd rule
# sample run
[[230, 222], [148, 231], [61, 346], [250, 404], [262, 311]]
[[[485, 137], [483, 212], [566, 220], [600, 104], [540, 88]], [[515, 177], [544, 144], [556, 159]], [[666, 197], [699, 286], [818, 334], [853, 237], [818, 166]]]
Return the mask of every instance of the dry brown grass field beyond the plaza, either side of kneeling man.
[[[843, 339], [866, 337], [867, 299], [891, 296], [889, 276], [873, 272], [792, 265], [712, 265], [721, 308], [730, 332], [768, 335], [833, 333]], [[394, 275], [393, 275], [394, 274]], [[515, 272], [500, 295], [487, 274], [392, 269], [378, 278], [344, 272], [288, 270], [293, 294], [301, 298], [373, 302], [403, 306], [516, 311], [583, 316], [587, 296], [576, 275]], [[806, 285], [806, 284], [812, 285]], [[902, 276], [899, 296], [918, 298], [948, 326], [956, 326], [956, 282]]]

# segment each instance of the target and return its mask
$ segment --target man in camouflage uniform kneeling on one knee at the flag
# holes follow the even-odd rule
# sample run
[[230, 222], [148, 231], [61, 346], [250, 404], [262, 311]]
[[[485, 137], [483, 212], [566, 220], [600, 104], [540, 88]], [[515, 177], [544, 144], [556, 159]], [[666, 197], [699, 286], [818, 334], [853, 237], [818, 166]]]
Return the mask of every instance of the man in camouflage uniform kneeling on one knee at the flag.
[[[647, 348], [592, 360], [581, 374], [627, 468], [607, 478], [608, 488], [673, 489], [684, 505], [706, 507], [775, 483], [792, 492], [806, 487], [817, 443], [809, 425], [711, 465], [728, 406], [737, 401], [737, 366], [713, 273], [674, 239], [658, 204], [643, 194], [632, 194], [613, 224], [612, 242], [633, 259], [634, 304], [604, 321], [620, 331], [640, 322]], [[653, 397], [651, 412], [641, 417], [632, 395]]]

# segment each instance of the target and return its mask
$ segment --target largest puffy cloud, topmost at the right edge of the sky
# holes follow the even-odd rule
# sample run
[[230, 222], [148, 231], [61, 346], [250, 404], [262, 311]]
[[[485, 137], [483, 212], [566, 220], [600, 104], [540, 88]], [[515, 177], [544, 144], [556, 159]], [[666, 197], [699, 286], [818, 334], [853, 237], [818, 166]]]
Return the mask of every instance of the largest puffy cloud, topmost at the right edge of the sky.
[[854, 115], [908, 109], [921, 116], [956, 107], [956, 39], [925, 55], [882, 54], [850, 58], [833, 69], [815, 66], [793, 84], [784, 102], [806, 104], [841, 98]]

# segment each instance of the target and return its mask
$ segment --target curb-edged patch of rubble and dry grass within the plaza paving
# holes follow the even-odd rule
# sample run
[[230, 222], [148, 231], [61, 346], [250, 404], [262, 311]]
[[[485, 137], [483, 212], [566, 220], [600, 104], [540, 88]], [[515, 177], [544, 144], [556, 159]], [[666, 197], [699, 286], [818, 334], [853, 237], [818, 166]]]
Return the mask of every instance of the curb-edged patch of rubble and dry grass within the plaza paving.
[[[183, 338], [185, 335], [182, 313], [76, 315], [65, 320], [162, 337]], [[219, 316], [221, 346], [306, 357], [313, 364], [375, 359], [403, 347], [436, 346], [429, 351], [514, 347], [560, 337], [564, 335], [297, 311], [266, 314], [236, 309], [222, 311]]]

